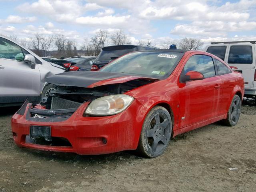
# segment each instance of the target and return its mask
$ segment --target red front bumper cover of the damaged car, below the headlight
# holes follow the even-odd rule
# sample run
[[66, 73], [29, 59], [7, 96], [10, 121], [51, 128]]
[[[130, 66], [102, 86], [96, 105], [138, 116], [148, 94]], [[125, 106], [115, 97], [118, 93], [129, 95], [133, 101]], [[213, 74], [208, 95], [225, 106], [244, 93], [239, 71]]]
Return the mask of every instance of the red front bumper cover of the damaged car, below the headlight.
[[[32, 104], [25, 102], [12, 117], [14, 142], [20, 147], [83, 155], [107, 154], [137, 148], [143, 117], [147, 111], [145, 106], [135, 99], [120, 114], [104, 117], [83, 116], [88, 104], [89, 102], [81, 104], [75, 111], [70, 109], [74, 112], [67, 112], [65, 115], [65, 110], [35, 109]], [[138, 115], [134, 116], [134, 113]], [[52, 140], [62, 138], [70, 144], [38, 144], [28, 139], [31, 126], [50, 127]]]

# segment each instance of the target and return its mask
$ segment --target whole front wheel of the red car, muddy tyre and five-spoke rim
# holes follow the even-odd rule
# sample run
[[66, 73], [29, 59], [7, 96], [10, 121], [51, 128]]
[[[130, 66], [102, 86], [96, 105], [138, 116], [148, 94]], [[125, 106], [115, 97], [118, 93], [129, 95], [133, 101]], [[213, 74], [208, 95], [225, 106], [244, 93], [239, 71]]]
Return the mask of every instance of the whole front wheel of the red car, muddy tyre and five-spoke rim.
[[155, 106], [144, 120], [137, 152], [149, 158], [160, 156], [168, 146], [171, 133], [169, 112], [164, 107]]

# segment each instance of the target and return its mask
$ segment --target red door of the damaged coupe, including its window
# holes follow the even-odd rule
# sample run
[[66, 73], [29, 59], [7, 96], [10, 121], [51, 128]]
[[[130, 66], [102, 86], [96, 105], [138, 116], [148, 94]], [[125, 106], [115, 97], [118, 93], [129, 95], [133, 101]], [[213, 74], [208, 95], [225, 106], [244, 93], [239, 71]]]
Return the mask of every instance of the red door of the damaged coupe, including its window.
[[186, 58], [181, 75], [198, 71], [203, 80], [184, 83], [180, 87], [180, 126], [188, 126], [218, 116], [222, 99], [222, 79], [216, 76], [214, 60], [204, 54], [192, 54]]

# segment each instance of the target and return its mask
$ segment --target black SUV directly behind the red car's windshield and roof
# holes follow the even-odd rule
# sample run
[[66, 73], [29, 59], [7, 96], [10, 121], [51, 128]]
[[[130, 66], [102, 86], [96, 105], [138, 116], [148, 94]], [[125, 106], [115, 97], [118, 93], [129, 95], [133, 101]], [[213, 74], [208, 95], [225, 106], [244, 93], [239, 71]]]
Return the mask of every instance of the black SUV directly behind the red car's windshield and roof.
[[144, 51], [144, 50], [156, 50], [159, 49], [150, 45], [114, 45], [102, 48], [102, 51], [92, 64], [91, 71], [98, 71], [100, 68], [117, 59], [118, 57], [134, 52], [134, 51]]

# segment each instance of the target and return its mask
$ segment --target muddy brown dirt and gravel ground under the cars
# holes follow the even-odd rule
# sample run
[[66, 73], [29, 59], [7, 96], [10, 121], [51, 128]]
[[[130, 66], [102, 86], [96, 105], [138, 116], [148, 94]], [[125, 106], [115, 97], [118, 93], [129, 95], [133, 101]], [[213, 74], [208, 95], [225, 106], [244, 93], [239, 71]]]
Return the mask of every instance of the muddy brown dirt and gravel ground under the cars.
[[175, 137], [154, 159], [18, 148], [10, 127], [16, 110], [0, 108], [0, 192], [256, 191], [256, 106], [243, 105], [234, 127], [215, 123]]

